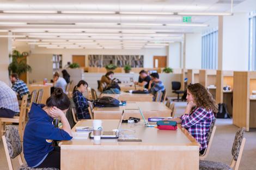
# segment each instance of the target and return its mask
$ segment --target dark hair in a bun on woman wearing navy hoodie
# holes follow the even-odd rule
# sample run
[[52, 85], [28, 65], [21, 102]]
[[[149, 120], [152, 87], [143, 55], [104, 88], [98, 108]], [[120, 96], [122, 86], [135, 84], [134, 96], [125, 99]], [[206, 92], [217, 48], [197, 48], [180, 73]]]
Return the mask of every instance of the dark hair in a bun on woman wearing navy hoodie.
[[56, 106], [60, 110], [69, 109], [69, 97], [63, 92], [61, 88], [56, 88], [52, 95], [46, 100], [48, 108]]

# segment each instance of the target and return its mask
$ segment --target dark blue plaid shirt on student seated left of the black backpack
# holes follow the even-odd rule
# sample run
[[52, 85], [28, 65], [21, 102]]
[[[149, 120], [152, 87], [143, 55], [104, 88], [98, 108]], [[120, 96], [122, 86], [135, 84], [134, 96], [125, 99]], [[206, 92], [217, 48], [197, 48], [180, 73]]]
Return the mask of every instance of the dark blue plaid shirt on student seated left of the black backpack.
[[76, 105], [78, 119], [85, 119], [86, 115], [89, 114], [87, 99], [80, 91], [76, 90], [73, 93], [73, 100]]

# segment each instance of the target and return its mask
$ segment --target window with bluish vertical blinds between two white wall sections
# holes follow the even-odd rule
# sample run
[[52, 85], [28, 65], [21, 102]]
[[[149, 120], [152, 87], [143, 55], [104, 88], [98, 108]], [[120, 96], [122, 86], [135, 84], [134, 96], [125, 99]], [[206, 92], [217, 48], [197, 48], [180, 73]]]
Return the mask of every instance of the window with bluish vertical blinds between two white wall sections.
[[218, 67], [218, 30], [202, 36], [202, 68], [217, 69]]

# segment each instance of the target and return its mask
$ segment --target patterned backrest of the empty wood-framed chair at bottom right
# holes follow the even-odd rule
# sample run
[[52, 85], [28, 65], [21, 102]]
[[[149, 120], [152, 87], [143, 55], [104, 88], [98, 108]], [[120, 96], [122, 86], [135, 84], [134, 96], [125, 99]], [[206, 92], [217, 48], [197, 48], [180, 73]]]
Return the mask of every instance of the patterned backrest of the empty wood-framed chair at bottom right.
[[230, 166], [234, 170], [238, 170], [240, 161], [242, 158], [242, 152], [243, 152], [243, 148], [245, 147], [245, 141], [246, 141], [245, 137], [243, 137], [244, 134], [245, 134], [245, 128], [239, 128], [236, 131], [233, 147], [231, 150], [231, 154], [233, 155], [233, 160]]

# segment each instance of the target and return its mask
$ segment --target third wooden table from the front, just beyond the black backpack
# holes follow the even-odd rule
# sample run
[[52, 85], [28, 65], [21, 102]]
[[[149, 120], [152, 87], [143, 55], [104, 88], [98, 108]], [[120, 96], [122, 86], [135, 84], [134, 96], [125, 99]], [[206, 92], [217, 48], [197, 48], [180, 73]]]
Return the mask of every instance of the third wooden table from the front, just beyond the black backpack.
[[120, 94], [101, 94], [103, 96], [110, 96], [116, 98], [118, 100], [125, 100], [127, 102], [152, 102], [153, 95], [152, 94], [134, 94], [134, 93], [126, 93], [121, 92]]

